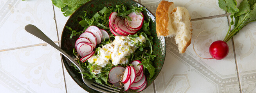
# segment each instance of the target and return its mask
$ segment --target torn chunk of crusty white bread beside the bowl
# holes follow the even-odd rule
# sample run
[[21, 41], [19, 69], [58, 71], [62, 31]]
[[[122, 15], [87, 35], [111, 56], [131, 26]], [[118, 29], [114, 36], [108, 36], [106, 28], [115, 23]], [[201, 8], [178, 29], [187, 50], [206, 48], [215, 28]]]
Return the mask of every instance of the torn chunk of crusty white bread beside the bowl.
[[[168, 6], [166, 2], [168, 1], [160, 2], [160, 7], [157, 7], [157, 36], [175, 36], [175, 42], [178, 44], [179, 53], [184, 53], [191, 43], [192, 26], [190, 22], [190, 15], [184, 7], [176, 7], [173, 10], [169, 10], [173, 8], [174, 4], [169, 2], [172, 3], [171, 5], [173, 6]], [[162, 13], [167, 12], [166, 9], [168, 9], [168, 15], [164, 15], [164, 13]]]

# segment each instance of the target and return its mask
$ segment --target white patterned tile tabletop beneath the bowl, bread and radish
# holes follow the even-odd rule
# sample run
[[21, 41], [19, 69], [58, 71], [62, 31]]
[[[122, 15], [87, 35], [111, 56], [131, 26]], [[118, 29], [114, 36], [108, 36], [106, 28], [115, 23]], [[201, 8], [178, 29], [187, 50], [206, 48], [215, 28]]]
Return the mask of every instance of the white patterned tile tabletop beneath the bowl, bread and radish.
[[[161, 0], [137, 1], [155, 14]], [[229, 27], [229, 16], [218, 7], [218, 0], [169, 1], [187, 8], [192, 19], [191, 43], [195, 41], [200, 56], [210, 57], [209, 45], [223, 40]], [[51, 0], [0, 0], [1, 93], [87, 93], [69, 76], [60, 53], [24, 30], [34, 24], [59, 45], [68, 18]], [[225, 59], [204, 60], [192, 44], [179, 54], [173, 38], [166, 38], [162, 71], [142, 93], [256, 93], [256, 22], [228, 45]]]

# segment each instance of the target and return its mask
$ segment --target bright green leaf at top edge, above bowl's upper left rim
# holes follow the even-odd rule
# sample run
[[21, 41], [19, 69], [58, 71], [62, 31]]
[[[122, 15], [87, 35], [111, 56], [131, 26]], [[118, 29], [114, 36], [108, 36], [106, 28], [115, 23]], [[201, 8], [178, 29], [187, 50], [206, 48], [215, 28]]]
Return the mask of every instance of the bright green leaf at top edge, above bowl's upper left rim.
[[52, 3], [64, 12], [64, 16], [71, 15], [78, 7], [90, 0], [52, 0]]

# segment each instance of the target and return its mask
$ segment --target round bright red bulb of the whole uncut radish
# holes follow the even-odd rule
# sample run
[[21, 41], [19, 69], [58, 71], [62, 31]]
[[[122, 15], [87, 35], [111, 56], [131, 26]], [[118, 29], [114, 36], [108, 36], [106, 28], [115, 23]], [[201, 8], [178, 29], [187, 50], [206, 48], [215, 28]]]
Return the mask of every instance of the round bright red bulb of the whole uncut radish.
[[209, 52], [214, 59], [221, 60], [229, 53], [229, 46], [222, 40], [214, 41], [209, 48]]

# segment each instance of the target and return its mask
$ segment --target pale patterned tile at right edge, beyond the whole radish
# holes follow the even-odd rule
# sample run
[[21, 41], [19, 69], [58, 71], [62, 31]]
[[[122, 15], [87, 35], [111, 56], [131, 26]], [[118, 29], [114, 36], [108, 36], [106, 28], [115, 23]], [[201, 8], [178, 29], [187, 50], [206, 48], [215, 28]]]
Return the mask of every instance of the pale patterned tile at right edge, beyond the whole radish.
[[256, 22], [245, 26], [234, 36], [236, 58], [244, 93], [256, 92]]

